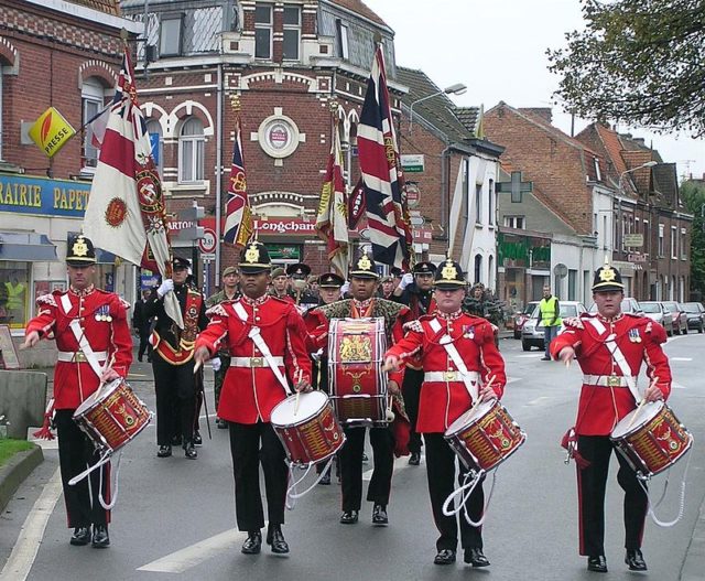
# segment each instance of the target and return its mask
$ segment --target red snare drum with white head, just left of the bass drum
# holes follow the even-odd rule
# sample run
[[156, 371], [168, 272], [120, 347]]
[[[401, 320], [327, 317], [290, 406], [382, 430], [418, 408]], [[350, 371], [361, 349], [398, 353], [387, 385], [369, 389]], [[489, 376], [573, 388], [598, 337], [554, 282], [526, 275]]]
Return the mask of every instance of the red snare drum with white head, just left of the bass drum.
[[328, 396], [310, 391], [290, 396], [272, 410], [270, 421], [293, 464], [322, 462], [345, 442], [345, 433], [335, 419]]

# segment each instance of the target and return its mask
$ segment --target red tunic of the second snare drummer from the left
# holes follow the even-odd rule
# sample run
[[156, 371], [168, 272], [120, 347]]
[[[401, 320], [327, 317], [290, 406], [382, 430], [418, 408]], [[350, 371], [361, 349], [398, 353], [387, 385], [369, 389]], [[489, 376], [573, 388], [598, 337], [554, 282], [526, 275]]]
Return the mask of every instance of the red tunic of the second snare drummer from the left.
[[[241, 304], [247, 323], [235, 312]], [[248, 333], [260, 329], [262, 338], [274, 357], [283, 357], [280, 367], [291, 385], [311, 383], [311, 359], [306, 353], [306, 327], [289, 301], [264, 295], [257, 301], [247, 298], [226, 301], [208, 310], [210, 323], [196, 340], [196, 349], [206, 347], [213, 356], [227, 349], [232, 357], [262, 357]], [[230, 364], [223, 384], [218, 417], [237, 423], [270, 421], [272, 409], [286, 398], [276, 376], [264, 364], [261, 367], [237, 367]]]

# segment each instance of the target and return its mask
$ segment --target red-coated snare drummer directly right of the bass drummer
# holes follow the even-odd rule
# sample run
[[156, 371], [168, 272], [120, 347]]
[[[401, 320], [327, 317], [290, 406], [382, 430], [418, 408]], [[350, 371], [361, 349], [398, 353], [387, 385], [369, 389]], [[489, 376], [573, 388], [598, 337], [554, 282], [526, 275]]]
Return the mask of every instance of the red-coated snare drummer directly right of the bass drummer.
[[[416, 430], [423, 434], [426, 446], [429, 493], [441, 534], [436, 540], [435, 564], [455, 562], [458, 544], [455, 515], [443, 514], [443, 504], [454, 491], [456, 463], [455, 452], [444, 439], [445, 430], [475, 404], [466, 381], [477, 386], [477, 396], [485, 401], [500, 398], [506, 384], [505, 362], [495, 346], [492, 325], [460, 309], [465, 287], [460, 265], [448, 259], [438, 266], [434, 277], [436, 311], [408, 325], [406, 336], [386, 354], [386, 366], [392, 369], [400, 368], [413, 356], [419, 357], [423, 366]], [[465, 381], [459, 370], [464, 366]], [[467, 472], [463, 463], [459, 472], [462, 477]], [[480, 482], [465, 505], [473, 521], [482, 516], [484, 504]], [[490, 563], [482, 552], [481, 528], [470, 525], [463, 513], [458, 514], [464, 560], [473, 567], [487, 567]]]

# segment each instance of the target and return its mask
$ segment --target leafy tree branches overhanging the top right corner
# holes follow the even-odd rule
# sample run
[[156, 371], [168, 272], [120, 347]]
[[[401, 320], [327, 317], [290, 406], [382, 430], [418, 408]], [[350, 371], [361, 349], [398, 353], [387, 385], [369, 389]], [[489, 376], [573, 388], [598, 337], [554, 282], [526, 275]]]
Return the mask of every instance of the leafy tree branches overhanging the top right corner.
[[703, 137], [705, 0], [581, 2], [586, 29], [546, 51], [567, 110]]

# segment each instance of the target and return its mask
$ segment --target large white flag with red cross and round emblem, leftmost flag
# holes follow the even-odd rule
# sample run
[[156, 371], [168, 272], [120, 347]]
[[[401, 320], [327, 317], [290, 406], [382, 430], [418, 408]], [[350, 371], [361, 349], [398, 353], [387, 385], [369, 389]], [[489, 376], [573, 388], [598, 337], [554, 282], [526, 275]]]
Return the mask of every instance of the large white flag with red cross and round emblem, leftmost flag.
[[[170, 278], [166, 212], [151, 150], [126, 49], [83, 232], [97, 247]], [[165, 295], [164, 306], [169, 316], [183, 329], [181, 308], [173, 292]]]

